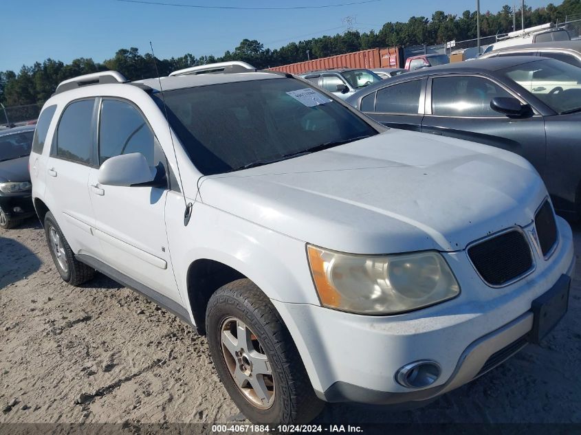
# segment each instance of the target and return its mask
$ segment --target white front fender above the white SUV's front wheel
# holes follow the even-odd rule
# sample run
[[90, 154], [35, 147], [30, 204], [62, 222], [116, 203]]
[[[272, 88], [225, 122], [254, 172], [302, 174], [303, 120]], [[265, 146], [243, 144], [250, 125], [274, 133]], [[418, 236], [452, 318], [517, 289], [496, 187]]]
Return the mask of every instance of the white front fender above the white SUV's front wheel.
[[[190, 265], [208, 259], [239, 271], [270, 299], [319, 305], [304, 241], [200, 202], [193, 203], [187, 226], [183, 216], [183, 197], [171, 192], [166, 202], [168, 245], [184, 301], [188, 301]], [[191, 307], [186, 309], [191, 315]]]

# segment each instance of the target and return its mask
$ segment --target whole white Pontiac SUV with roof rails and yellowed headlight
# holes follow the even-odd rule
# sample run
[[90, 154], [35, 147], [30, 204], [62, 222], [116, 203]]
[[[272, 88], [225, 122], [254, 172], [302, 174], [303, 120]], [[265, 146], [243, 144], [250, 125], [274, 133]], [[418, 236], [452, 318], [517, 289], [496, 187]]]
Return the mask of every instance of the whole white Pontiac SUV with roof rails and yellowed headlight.
[[253, 422], [429, 401], [567, 310], [571, 229], [525, 159], [387, 129], [307, 80], [107, 71], [59, 85], [40, 124], [63, 280], [101, 271], [207, 334]]

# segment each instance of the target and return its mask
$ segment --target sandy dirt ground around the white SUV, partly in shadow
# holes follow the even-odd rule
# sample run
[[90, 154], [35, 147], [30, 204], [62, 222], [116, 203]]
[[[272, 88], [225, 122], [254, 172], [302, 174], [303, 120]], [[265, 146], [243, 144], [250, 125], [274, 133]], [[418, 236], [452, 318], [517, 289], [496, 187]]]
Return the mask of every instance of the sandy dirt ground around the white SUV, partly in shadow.
[[[575, 249], [581, 253], [581, 225]], [[581, 261], [541, 346], [430, 405], [327, 405], [320, 423], [581, 423]], [[98, 275], [62, 282], [35, 219], [0, 230], [0, 423], [243, 421], [204, 337]]]

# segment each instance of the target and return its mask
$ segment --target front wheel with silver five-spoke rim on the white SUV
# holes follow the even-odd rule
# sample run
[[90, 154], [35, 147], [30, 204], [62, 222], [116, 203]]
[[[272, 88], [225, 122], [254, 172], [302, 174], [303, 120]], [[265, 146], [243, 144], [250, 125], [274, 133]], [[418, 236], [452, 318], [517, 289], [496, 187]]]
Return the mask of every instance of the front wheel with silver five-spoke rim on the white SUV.
[[206, 331], [214, 366], [252, 423], [308, 423], [322, 410], [292, 337], [272, 302], [248, 279], [210, 298]]

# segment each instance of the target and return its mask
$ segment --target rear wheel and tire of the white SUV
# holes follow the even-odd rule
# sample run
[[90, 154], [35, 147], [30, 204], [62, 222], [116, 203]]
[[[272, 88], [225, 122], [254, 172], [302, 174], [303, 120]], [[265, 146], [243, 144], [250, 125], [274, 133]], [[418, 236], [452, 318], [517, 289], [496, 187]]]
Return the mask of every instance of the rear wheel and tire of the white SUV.
[[51, 212], [47, 212], [45, 216], [45, 235], [50, 255], [63, 281], [78, 286], [95, 276], [95, 269], [76, 260], [61, 227], [58, 226]]

